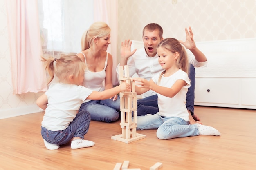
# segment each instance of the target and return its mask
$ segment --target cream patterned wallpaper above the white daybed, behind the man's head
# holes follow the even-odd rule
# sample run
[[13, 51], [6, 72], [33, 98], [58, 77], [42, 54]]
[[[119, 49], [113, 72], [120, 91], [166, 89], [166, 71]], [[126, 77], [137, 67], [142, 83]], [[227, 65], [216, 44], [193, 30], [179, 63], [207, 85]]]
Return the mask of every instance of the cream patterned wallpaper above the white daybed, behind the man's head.
[[155, 22], [164, 38], [185, 40], [191, 26], [195, 41], [256, 37], [256, 0], [120, 0], [119, 42], [142, 40], [142, 29]]

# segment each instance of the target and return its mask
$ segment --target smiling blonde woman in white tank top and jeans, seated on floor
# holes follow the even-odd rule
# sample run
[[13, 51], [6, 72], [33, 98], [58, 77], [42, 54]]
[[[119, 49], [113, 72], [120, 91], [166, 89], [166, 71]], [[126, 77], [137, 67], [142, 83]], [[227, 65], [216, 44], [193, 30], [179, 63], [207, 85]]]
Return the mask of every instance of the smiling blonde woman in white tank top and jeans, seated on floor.
[[[112, 55], [106, 50], [110, 42], [110, 27], [105, 22], [94, 22], [81, 38], [82, 51], [76, 55], [85, 62], [83, 86], [94, 91], [113, 88]], [[85, 100], [80, 110], [87, 110], [95, 121], [112, 122], [119, 119], [120, 98], [113, 95], [109, 99]]]

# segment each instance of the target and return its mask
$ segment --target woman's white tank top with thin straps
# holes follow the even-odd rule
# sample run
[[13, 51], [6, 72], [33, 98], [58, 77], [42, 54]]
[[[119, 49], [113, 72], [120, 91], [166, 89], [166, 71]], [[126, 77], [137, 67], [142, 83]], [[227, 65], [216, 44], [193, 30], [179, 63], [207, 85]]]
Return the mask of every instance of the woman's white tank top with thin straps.
[[[80, 52], [80, 53], [82, 53], [82, 52]], [[87, 66], [85, 54], [84, 53], [82, 53], [82, 54], [85, 58], [85, 64]], [[86, 88], [89, 88], [93, 91], [103, 91], [105, 89], [104, 80], [106, 77], [107, 62], [108, 62], [108, 53], [106, 56], [105, 66], [102, 71], [92, 72], [87, 67], [85, 69], [85, 73], [84, 73], [83, 86], [85, 86]]]

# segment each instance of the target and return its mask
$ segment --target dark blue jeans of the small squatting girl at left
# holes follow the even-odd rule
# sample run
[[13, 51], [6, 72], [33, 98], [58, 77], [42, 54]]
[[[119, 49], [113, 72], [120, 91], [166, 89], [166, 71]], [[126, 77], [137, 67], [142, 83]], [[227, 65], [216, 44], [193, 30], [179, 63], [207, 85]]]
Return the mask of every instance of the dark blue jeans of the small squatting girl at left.
[[84, 139], [84, 135], [89, 130], [90, 121], [90, 113], [83, 110], [77, 113], [76, 117], [65, 130], [51, 131], [41, 127], [41, 135], [47, 142], [57, 145], [66, 144], [73, 137]]

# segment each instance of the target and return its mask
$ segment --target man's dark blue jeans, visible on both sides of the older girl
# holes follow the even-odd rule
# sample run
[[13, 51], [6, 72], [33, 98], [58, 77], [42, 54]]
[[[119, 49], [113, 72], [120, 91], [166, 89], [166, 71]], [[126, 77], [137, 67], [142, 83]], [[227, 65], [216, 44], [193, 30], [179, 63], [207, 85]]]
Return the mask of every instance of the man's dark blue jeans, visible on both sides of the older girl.
[[[194, 102], [195, 102], [195, 67], [190, 64], [189, 66], [189, 79], [191, 86], [186, 93], [186, 108], [191, 111], [191, 115], [194, 114]], [[155, 114], [158, 112], [157, 95], [145, 97], [144, 99], [137, 100], [137, 116], [143, 116], [146, 114]]]

